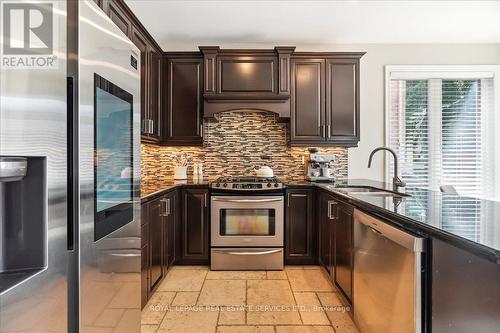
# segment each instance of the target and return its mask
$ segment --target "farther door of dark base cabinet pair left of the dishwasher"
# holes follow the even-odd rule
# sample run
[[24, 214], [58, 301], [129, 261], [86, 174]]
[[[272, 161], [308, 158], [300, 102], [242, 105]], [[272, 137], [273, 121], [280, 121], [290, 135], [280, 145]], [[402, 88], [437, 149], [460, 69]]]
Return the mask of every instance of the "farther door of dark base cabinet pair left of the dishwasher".
[[319, 213], [319, 260], [320, 263], [325, 267], [325, 269], [330, 272], [331, 264], [331, 217], [330, 213], [330, 202], [332, 197], [324, 192], [320, 192], [318, 198], [318, 213]]

